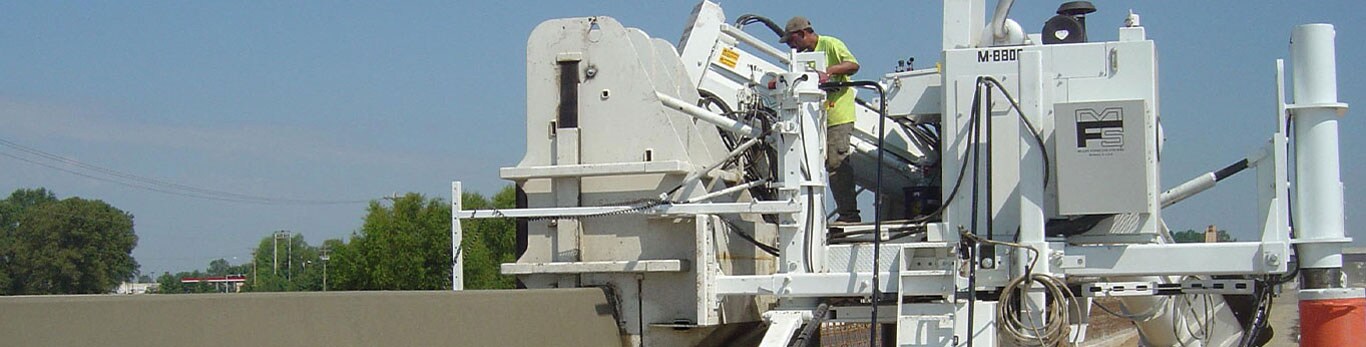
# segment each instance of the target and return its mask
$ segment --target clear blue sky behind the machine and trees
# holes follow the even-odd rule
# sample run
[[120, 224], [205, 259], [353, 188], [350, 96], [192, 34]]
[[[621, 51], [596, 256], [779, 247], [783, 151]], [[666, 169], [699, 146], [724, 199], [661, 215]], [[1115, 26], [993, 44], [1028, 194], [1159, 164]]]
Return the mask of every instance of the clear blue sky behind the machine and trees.
[[[1016, 1], [1035, 33], [1060, 1]], [[1087, 25], [1115, 40], [1130, 8], [1160, 57], [1162, 189], [1253, 152], [1273, 131], [1274, 59], [1291, 29], [1337, 27], [1339, 100], [1366, 107], [1361, 1], [1094, 1]], [[367, 201], [449, 182], [494, 193], [525, 150], [526, 37], [552, 18], [609, 15], [675, 41], [694, 1], [5, 1], [0, 3], [0, 139], [161, 183], [183, 197], [0, 146], [0, 193], [46, 187], [135, 216], [143, 273], [245, 262], [276, 230], [309, 243], [358, 230], [365, 204], [224, 202], [232, 194]], [[836, 4], [836, 8], [832, 8]], [[727, 16], [806, 15], [844, 40], [858, 79], [896, 60], [933, 64], [940, 1], [724, 1]], [[750, 27], [758, 37], [770, 37]], [[776, 40], [775, 40], [776, 45]], [[1288, 67], [1288, 64], [1287, 64]], [[1358, 102], [1362, 102], [1358, 105]], [[1366, 120], [1340, 123], [1348, 236], [1366, 238]], [[1165, 210], [1173, 230], [1217, 224], [1251, 239], [1253, 172]], [[161, 183], [145, 184], [168, 187]], [[208, 195], [205, 198], [204, 195]]]

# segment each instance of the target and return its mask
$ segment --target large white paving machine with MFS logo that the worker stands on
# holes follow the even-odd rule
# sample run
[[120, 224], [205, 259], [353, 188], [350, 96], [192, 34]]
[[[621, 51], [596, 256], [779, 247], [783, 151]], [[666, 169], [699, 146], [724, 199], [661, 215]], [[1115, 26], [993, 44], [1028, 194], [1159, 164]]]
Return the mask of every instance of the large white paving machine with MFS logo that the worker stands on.
[[[1094, 309], [1150, 346], [1243, 346], [1266, 337], [1269, 295], [1294, 273], [1359, 295], [1339, 280], [1332, 26], [1294, 30], [1294, 102], [1281, 61], [1268, 68], [1264, 148], [1164, 191], [1139, 18], [1094, 42], [1090, 3], [1063, 4], [1042, 33], [1008, 19], [1011, 3], [988, 16], [982, 0], [945, 0], [938, 64], [847, 85], [817, 81], [822, 53], [742, 30], [781, 34], [772, 20], [732, 23], [712, 1], [676, 46], [607, 16], [541, 23], [527, 153], [500, 171], [518, 208], [464, 210], [452, 186], [456, 288], [460, 221], [515, 217], [503, 273], [602, 288], [623, 346], [803, 346], [822, 322], [873, 322], [884, 346], [1067, 346]], [[865, 90], [851, 165], [870, 223], [828, 223], [822, 87]], [[1261, 239], [1173, 243], [1162, 209], [1244, 169]]]

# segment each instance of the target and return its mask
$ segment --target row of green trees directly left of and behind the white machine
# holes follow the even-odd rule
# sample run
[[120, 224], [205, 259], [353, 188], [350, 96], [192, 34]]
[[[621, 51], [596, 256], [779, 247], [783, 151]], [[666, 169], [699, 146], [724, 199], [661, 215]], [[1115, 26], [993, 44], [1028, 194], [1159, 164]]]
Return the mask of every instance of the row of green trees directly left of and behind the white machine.
[[[515, 190], [493, 197], [464, 193], [466, 209], [512, 208]], [[499, 265], [514, 262], [515, 223], [511, 219], [462, 221], [464, 287], [512, 288]], [[408, 193], [370, 201], [359, 230], [346, 239], [310, 245], [302, 234], [275, 231], [261, 238], [251, 260], [232, 265], [214, 260], [205, 270], [163, 273], [160, 292], [216, 292], [238, 288], [180, 283], [183, 277], [246, 276], [240, 291], [363, 291], [449, 290], [451, 205], [443, 198]]]

